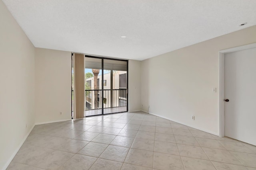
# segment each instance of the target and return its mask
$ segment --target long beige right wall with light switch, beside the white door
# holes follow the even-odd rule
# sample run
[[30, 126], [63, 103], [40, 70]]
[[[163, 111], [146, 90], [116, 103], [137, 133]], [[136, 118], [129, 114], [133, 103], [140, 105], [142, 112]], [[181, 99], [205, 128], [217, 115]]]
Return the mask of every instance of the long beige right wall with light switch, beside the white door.
[[142, 109], [218, 135], [218, 51], [255, 42], [253, 26], [142, 61]]

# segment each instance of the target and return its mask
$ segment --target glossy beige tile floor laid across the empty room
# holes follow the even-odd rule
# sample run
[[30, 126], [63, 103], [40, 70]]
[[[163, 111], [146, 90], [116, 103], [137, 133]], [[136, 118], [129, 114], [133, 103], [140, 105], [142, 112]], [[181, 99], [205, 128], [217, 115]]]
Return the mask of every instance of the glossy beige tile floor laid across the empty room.
[[8, 170], [256, 170], [256, 147], [144, 112], [36, 125]]

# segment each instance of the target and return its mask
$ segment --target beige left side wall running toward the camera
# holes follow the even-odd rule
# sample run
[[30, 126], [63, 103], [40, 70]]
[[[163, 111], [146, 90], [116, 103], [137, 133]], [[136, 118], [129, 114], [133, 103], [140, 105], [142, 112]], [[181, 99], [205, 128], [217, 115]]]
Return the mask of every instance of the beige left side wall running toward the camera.
[[[34, 46], [0, 0], [0, 169], [34, 127]], [[26, 127], [27, 125], [27, 127]]]

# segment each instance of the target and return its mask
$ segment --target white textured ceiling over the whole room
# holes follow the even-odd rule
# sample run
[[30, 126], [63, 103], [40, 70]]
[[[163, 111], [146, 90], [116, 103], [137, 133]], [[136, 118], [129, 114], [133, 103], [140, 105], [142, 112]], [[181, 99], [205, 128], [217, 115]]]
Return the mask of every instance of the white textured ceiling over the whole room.
[[124, 59], [148, 59], [256, 25], [256, 0], [3, 2], [35, 47]]

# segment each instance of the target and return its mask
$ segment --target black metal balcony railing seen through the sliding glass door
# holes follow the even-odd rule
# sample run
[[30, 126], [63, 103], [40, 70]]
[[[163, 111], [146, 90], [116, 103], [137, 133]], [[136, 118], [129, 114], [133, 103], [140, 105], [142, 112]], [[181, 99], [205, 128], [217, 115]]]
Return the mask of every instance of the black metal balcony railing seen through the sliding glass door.
[[127, 106], [127, 89], [85, 90], [85, 110]]

